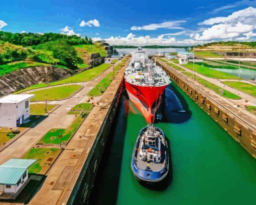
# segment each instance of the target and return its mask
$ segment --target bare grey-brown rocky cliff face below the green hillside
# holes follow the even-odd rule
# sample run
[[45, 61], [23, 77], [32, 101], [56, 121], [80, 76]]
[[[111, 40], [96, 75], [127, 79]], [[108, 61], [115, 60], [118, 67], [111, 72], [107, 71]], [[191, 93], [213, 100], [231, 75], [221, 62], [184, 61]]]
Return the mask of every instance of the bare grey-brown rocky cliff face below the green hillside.
[[38, 83], [60, 80], [73, 74], [75, 72], [72, 70], [54, 66], [20, 69], [0, 77], [0, 97]]

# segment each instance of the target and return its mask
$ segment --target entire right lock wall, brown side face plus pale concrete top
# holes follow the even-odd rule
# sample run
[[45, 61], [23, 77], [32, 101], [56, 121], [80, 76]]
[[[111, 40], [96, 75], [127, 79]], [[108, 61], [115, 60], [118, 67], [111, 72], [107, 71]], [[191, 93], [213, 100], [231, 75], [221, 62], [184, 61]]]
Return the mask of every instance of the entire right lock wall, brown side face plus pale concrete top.
[[234, 103], [209, 90], [205, 86], [157, 60], [157, 65], [169, 74], [198, 106], [211, 116], [246, 151], [256, 158], [256, 116], [234, 106]]

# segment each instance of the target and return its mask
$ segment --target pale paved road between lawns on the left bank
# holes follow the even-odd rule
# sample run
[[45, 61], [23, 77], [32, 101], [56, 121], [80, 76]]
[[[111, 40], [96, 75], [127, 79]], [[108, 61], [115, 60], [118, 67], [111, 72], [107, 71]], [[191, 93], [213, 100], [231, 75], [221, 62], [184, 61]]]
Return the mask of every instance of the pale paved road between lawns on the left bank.
[[[118, 64], [117, 62], [116, 64]], [[20, 158], [22, 157], [30, 147], [32, 147], [39, 139], [41, 139], [45, 133], [52, 129], [52, 128], [67, 128], [71, 125], [72, 121], [75, 119], [74, 115], [68, 115], [67, 113], [74, 107], [76, 104], [86, 102], [88, 100], [87, 93], [94, 88], [109, 72], [113, 70], [112, 66], [108, 68], [106, 71], [101, 73], [97, 78], [92, 81], [81, 83], [83, 84], [83, 88], [76, 93], [75, 95], [71, 96], [70, 98], [62, 101], [54, 101], [56, 104], [60, 104], [61, 106], [58, 107], [53, 113], [49, 114], [48, 117], [40, 122], [34, 128], [31, 128], [27, 133], [17, 139], [15, 142], [10, 144], [7, 148], [0, 152], [0, 164], [7, 161], [10, 158]], [[75, 83], [74, 83], [75, 84]], [[65, 84], [63, 84], [65, 85]], [[63, 86], [62, 85], [62, 86]], [[56, 87], [58, 87], [57, 85]], [[55, 86], [51, 86], [55, 87]], [[42, 89], [47, 89], [42, 88]], [[36, 89], [36, 90], [42, 90]], [[26, 91], [24, 93], [30, 93], [35, 90]], [[95, 98], [95, 100], [99, 98]], [[42, 101], [43, 103], [45, 101]], [[40, 102], [35, 102], [40, 103]]]

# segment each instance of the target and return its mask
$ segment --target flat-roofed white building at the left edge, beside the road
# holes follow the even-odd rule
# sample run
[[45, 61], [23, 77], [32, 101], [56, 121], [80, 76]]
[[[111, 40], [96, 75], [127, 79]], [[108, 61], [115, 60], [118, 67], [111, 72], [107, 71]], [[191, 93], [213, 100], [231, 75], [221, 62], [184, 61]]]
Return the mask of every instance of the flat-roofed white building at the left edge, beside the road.
[[30, 116], [30, 99], [35, 95], [18, 94], [0, 98], [0, 127], [17, 127]]

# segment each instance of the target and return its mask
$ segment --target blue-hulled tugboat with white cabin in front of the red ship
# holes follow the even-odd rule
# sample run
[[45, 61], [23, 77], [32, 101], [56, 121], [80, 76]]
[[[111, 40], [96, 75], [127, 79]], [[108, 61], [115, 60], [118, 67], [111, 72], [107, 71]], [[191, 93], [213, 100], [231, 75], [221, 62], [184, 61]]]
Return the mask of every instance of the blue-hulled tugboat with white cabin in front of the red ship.
[[169, 170], [169, 150], [164, 132], [149, 124], [142, 128], [132, 155], [132, 171], [139, 181], [162, 181]]

